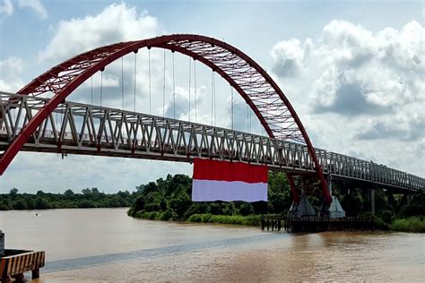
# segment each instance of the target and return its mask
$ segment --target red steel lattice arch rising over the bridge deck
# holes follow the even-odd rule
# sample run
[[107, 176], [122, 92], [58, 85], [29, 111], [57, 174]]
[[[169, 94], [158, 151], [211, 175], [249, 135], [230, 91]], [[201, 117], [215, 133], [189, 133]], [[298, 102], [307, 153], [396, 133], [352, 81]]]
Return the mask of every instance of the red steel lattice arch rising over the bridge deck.
[[159, 47], [177, 51], [209, 66], [239, 92], [270, 137], [305, 143], [321, 181], [325, 201], [332, 202], [308, 133], [279, 86], [259, 64], [238, 48], [221, 40], [192, 34], [160, 36], [99, 47], [57, 64], [31, 81], [18, 93], [33, 96], [50, 94], [51, 98], [4, 151], [0, 159], [0, 175], [3, 175], [4, 170], [21, 150], [23, 144], [44, 119], [82, 82], [94, 73], [103, 71], [105, 66], [118, 58], [131, 52], [136, 53], [143, 47]]

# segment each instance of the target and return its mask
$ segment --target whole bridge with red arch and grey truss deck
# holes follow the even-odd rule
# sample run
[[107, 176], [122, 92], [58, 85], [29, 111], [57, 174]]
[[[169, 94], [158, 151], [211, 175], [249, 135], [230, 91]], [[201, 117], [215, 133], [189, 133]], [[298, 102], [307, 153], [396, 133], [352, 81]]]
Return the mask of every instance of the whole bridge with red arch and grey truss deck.
[[[267, 136], [66, 100], [108, 64], [153, 47], [192, 57], [220, 74], [245, 99]], [[56, 119], [56, 114], [63, 119]], [[314, 148], [290, 101], [261, 66], [236, 47], [198, 35], [161, 36], [100, 47], [56, 65], [17, 93], [0, 92], [0, 150], [0, 174], [20, 150], [265, 164], [287, 173], [295, 202], [299, 202], [299, 195], [292, 176], [316, 176], [328, 204], [333, 201], [326, 182], [330, 176], [401, 193], [425, 190], [422, 177]]]

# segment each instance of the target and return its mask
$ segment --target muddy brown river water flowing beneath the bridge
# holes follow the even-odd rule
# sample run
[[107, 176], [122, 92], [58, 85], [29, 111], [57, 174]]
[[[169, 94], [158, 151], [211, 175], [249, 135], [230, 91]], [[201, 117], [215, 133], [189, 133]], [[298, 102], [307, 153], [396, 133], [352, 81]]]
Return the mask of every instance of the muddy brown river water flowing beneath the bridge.
[[132, 219], [126, 209], [0, 211], [0, 229], [6, 248], [46, 251], [33, 282], [425, 282], [422, 234], [272, 233]]

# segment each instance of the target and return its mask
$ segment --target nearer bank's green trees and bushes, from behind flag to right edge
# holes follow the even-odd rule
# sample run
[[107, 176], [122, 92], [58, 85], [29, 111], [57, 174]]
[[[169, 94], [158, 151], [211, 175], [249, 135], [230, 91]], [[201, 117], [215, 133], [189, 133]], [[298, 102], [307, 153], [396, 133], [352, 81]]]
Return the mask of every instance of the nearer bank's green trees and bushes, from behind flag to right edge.
[[[137, 186], [138, 197], [128, 215], [139, 219], [258, 225], [260, 214], [285, 214], [292, 203], [290, 187], [283, 173], [269, 175], [269, 202], [191, 202], [191, 183], [188, 176], [169, 175], [166, 179], [160, 178], [156, 182]], [[320, 210], [322, 196], [317, 183], [310, 181], [305, 185], [308, 199], [317, 211]], [[348, 188], [349, 184], [335, 182], [333, 192], [342, 202], [347, 216], [369, 215], [368, 191], [355, 187], [351, 187], [349, 191]], [[424, 216], [424, 203], [423, 193], [414, 195], [408, 203], [403, 195], [394, 196], [383, 190], [376, 190], [377, 226], [381, 229], [421, 232], [418, 227], [423, 226], [423, 218], [408, 218]], [[406, 224], [402, 226], [399, 223]]]

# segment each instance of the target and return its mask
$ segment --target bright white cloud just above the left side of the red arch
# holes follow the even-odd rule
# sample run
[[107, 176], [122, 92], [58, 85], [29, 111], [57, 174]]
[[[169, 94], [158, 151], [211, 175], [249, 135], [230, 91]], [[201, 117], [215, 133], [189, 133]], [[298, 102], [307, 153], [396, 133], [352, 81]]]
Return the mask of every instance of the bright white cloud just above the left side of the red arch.
[[156, 18], [125, 3], [111, 4], [97, 15], [60, 21], [40, 60], [59, 62], [76, 54], [119, 41], [148, 39], [163, 32]]

